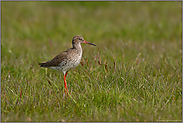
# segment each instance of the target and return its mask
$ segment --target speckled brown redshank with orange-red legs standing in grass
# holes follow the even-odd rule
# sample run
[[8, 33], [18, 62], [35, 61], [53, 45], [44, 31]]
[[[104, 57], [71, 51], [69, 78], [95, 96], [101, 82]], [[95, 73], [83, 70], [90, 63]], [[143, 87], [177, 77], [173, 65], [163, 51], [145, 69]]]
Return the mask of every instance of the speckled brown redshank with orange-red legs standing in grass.
[[72, 39], [72, 48], [58, 54], [50, 61], [47, 61], [45, 63], [39, 63], [40, 67], [47, 67], [63, 72], [64, 85], [67, 92], [68, 92], [66, 82], [67, 72], [70, 69], [73, 69], [79, 65], [82, 57], [82, 47], [81, 47], [82, 43], [96, 46], [95, 44], [85, 41], [82, 36], [76, 35]]

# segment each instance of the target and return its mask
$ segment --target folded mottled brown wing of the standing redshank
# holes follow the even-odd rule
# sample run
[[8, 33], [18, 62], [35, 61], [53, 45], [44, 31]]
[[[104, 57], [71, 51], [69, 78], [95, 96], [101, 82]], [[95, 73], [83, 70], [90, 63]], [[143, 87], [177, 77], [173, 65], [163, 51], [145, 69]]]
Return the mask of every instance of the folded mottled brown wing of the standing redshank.
[[68, 51], [64, 51], [57, 56], [55, 56], [52, 60], [47, 61], [45, 63], [39, 63], [40, 67], [55, 67], [58, 66], [62, 62], [63, 59], [67, 57]]

